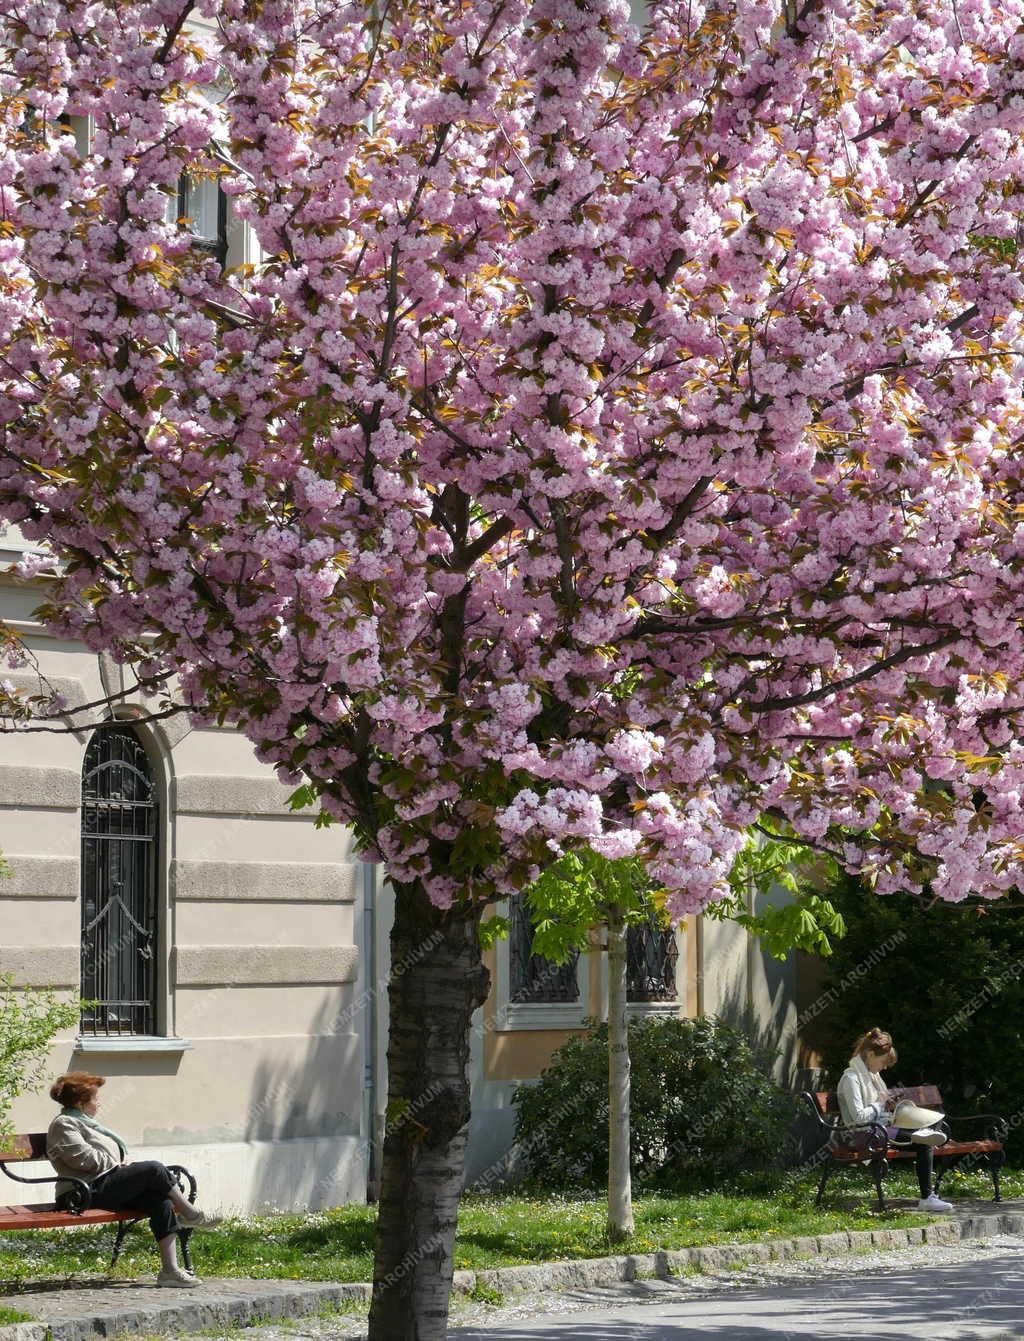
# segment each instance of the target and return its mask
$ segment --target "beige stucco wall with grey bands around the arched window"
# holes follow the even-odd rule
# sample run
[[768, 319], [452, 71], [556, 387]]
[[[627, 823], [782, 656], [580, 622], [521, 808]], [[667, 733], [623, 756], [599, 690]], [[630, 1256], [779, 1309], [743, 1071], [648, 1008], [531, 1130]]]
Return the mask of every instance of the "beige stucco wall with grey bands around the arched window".
[[[67, 700], [117, 688], [115, 666], [44, 634], [31, 617], [38, 599], [38, 589], [0, 577], [0, 620], [27, 637]], [[157, 1033], [166, 1038], [109, 1051], [90, 1041], [83, 1051], [72, 1031], [50, 1069], [110, 1077], [102, 1117], [134, 1155], [190, 1167], [206, 1204], [362, 1198], [362, 884], [348, 835], [290, 813], [288, 789], [236, 732], [192, 730], [184, 717], [139, 730], [162, 799]], [[84, 734], [0, 736], [0, 852], [13, 869], [0, 881], [0, 971], [68, 991], [79, 982], [86, 743]], [[173, 1038], [181, 1045], [155, 1050]], [[39, 1130], [54, 1112], [27, 1096], [13, 1118]]]

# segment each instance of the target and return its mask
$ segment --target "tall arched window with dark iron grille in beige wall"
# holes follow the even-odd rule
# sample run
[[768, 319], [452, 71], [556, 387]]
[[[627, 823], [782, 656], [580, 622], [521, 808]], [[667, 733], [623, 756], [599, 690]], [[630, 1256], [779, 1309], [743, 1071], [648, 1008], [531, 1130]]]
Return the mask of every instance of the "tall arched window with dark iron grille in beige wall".
[[82, 772], [83, 1034], [155, 1033], [157, 813], [135, 732], [99, 727]]

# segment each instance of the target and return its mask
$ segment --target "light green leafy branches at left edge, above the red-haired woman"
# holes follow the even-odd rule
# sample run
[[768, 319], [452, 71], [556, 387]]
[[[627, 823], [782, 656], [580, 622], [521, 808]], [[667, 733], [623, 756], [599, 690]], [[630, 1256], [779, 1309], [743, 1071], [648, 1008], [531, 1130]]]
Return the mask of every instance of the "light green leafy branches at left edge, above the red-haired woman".
[[[0, 878], [11, 874], [0, 856]], [[13, 1134], [11, 1108], [19, 1094], [39, 1089], [50, 1045], [79, 1019], [80, 1002], [56, 992], [19, 988], [12, 974], [0, 974], [0, 1149]]]

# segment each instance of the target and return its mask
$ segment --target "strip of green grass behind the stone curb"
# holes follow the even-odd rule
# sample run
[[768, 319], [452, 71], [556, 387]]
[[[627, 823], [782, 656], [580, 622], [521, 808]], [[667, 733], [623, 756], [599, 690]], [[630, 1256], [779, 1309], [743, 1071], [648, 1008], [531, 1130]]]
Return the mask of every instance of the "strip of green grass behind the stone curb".
[[[984, 1173], [950, 1177], [953, 1199], [992, 1195]], [[650, 1252], [704, 1243], [749, 1243], [793, 1235], [925, 1224], [933, 1216], [871, 1207], [866, 1173], [836, 1173], [826, 1207], [814, 1207], [815, 1179], [785, 1176], [772, 1183], [739, 1179], [728, 1188], [688, 1196], [637, 1196], [637, 1232], [614, 1251]], [[893, 1198], [917, 1198], [910, 1171], [894, 1171]], [[1004, 1195], [1024, 1196], [1024, 1171], [1007, 1171]], [[344, 1206], [310, 1215], [267, 1215], [225, 1220], [193, 1238], [200, 1275], [284, 1277], [304, 1281], [369, 1281], [373, 1275], [375, 1208]], [[95, 1278], [106, 1274], [114, 1230], [38, 1230], [0, 1235], [0, 1287], [19, 1282]], [[604, 1232], [604, 1203], [591, 1196], [466, 1195], [458, 1214], [457, 1267], [516, 1266], [613, 1251]], [[157, 1269], [155, 1246], [143, 1223], [129, 1235], [117, 1274]]]

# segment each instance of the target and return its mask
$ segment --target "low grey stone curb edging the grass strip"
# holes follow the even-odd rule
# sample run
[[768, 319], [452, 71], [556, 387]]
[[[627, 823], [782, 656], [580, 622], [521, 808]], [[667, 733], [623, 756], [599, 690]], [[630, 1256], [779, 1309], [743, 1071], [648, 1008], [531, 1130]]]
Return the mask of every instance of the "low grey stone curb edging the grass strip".
[[[531, 1266], [503, 1266], [484, 1271], [456, 1271], [452, 1282], [457, 1294], [472, 1294], [484, 1287], [501, 1294], [525, 1290], [566, 1290], [595, 1285], [617, 1285], [646, 1278], [667, 1279], [682, 1271], [720, 1271], [753, 1263], [800, 1261], [915, 1247], [922, 1243], [958, 1243], [961, 1239], [989, 1238], [997, 1234], [1024, 1234], [1024, 1214], [965, 1215], [962, 1219], [936, 1220], [933, 1224], [899, 1230], [848, 1230], [793, 1239], [771, 1239], [765, 1243], [724, 1243], [694, 1248], [661, 1248], [657, 1252], [629, 1252], [619, 1257], [583, 1258], [576, 1262], [544, 1262]], [[212, 1326], [245, 1326], [275, 1322], [281, 1318], [316, 1313], [324, 1306], [350, 1299], [367, 1301], [371, 1286], [281, 1282], [271, 1293], [272, 1282], [255, 1294], [245, 1282], [217, 1290], [210, 1279], [200, 1293], [188, 1298], [168, 1291], [138, 1286], [126, 1290], [125, 1306], [115, 1310], [75, 1317], [51, 1318], [48, 1322], [15, 1322], [0, 1326], [0, 1341], [91, 1341], [97, 1336], [114, 1337], [138, 1332], [198, 1332]], [[214, 1293], [216, 1291], [216, 1293]], [[27, 1311], [27, 1310], [25, 1310]]]

